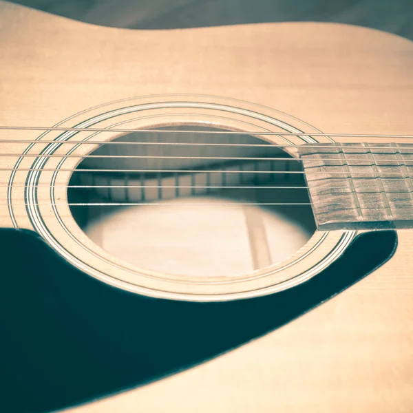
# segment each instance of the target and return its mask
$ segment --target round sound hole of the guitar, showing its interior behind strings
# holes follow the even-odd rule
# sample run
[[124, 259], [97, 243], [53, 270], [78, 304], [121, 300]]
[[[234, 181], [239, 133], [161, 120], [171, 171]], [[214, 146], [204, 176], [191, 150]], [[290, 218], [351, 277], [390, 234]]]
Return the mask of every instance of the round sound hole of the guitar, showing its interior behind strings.
[[68, 193], [87, 204], [71, 209], [89, 238], [140, 268], [190, 276], [252, 273], [304, 246], [315, 222], [309, 205], [291, 205], [309, 202], [304, 176], [291, 173], [300, 162], [269, 143], [243, 146], [266, 144], [253, 136], [175, 129], [114, 142], [231, 145], [101, 146], [91, 155], [109, 157], [85, 158], [78, 169], [91, 171], [75, 172]]

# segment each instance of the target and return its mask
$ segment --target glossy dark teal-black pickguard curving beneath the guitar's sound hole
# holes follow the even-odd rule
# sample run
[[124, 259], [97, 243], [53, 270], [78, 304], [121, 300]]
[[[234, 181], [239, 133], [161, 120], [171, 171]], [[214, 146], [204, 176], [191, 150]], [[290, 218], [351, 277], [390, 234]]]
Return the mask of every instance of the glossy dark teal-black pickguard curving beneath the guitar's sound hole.
[[72, 268], [30, 232], [0, 231], [0, 404], [47, 412], [143, 385], [306, 313], [388, 260], [394, 231], [357, 237], [306, 284], [222, 303], [151, 299]]

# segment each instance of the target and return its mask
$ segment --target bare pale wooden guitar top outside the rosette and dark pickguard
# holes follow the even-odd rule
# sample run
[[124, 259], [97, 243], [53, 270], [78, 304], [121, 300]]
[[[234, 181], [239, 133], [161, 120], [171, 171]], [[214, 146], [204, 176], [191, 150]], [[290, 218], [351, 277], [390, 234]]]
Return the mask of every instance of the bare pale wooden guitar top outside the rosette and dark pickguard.
[[[412, 134], [413, 45], [390, 34], [313, 23], [134, 32], [0, 4], [2, 125], [53, 125], [109, 100], [184, 92], [260, 103], [330, 133]], [[2, 207], [2, 226], [8, 216]], [[30, 227], [24, 209], [19, 224]], [[72, 411], [411, 412], [412, 240], [399, 231], [390, 262], [288, 326]]]

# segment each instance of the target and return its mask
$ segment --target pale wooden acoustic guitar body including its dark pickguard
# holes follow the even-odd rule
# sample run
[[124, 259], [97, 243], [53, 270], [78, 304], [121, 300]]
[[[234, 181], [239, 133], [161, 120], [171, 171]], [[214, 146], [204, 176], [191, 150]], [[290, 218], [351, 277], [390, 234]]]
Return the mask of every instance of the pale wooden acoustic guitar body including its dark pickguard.
[[[61, 123], [71, 127], [87, 119], [87, 110], [98, 116], [118, 110], [124, 102], [149, 105], [156, 101], [155, 97], [136, 96], [159, 95], [158, 100], [165, 103], [168, 96], [186, 94], [222, 96], [200, 98], [203, 105], [222, 107], [223, 99], [237, 100], [249, 114], [260, 105], [262, 114], [270, 116], [273, 112], [267, 108], [271, 108], [279, 111], [283, 120], [294, 119], [292, 125], [304, 125], [306, 130], [300, 130], [306, 134], [318, 130], [407, 135], [413, 130], [413, 43], [371, 29], [328, 23], [266, 23], [121, 30], [1, 1], [0, 32], [0, 125], [51, 127]], [[182, 97], [171, 99], [182, 101]], [[167, 116], [178, 119], [182, 110], [173, 110]], [[196, 116], [209, 123], [208, 110], [190, 109], [191, 123]], [[163, 116], [162, 108], [156, 116]], [[240, 130], [237, 123], [246, 123], [242, 116], [237, 112], [218, 127]], [[171, 119], [156, 125], [174, 125]], [[127, 127], [154, 126], [149, 117], [139, 124], [126, 120]], [[262, 127], [261, 120], [251, 122], [252, 130]], [[32, 141], [41, 134], [39, 130], [1, 130], [0, 139]], [[120, 134], [100, 139], [116, 136]], [[337, 137], [335, 141], [366, 139]], [[405, 140], [388, 138], [385, 142]], [[3, 153], [22, 153], [24, 145], [10, 142], [1, 148]], [[23, 189], [17, 188], [9, 197], [17, 159], [0, 158], [0, 226], [4, 228], [0, 254], [1, 268], [6, 268], [1, 276], [7, 287], [2, 313], [12, 315], [3, 319], [2, 340], [8, 352], [18, 349], [10, 355], [13, 363], [20, 360], [17, 370], [10, 359], [8, 364], [0, 363], [8, 366], [3, 386], [3, 399], [10, 402], [6, 411], [46, 412], [63, 407], [87, 413], [411, 411], [411, 229], [354, 233], [342, 256], [296, 289], [283, 288], [268, 295], [269, 284], [257, 284], [257, 290], [265, 294], [251, 298], [243, 297], [241, 290], [217, 287], [217, 294], [225, 296], [223, 303], [193, 303], [184, 295], [209, 301], [204, 298], [213, 293], [195, 286], [193, 290], [173, 290], [168, 280], [162, 281], [165, 294], [153, 293], [156, 288], [149, 284], [134, 290], [126, 287], [126, 275], [121, 288], [114, 288], [114, 282], [105, 284], [100, 276], [82, 271], [70, 257], [79, 257], [88, 266], [92, 266], [92, 258], [76, 253], [77, 247], [56, 229], [51, 209], [42, 212], [45, 226], [69, 253], [57, 251], [43, 233], [46, 243], [41, 241], [34, 235], [41, 232], [41, 224], [26, 209]], [[76, 167], [78, 160], [67, 162]], [[27, 176], [27, 171], [17, 171], [13, 184], [24, 186]], [[69, 180], [70, 173], [63, 172], [57, 184]], [[48, 191], [43, 195], [49, 196]], [[67, 200], [66, 190], [58, 190], [56, 199]], [[95, 248], [71, 220], [70, 209], [59, 208], [70, 233]], [[305, 273], [304, 266], [323, 262], [344, 235], [331, 231], [323, 247], [310, 255], [312, 262], [307, 256], [301, 260], [306, 248], [313, 248], [322, 236], [318, 231], [316, 238], [294, 255], [300, 262], [283, 274], [290, 271], [288, 277], [295, 277]], [[96, 251], [109, 259], [98, 246]], [[96, 261], [96, 267], [99, 265]], [[107, 268], [109, 274], [109, 264]], [[174, 301], [182, 298], [184, 301]], [[54, 318], [50, 316], [53, 308]], [[44, 324], [42, 314], [48, 317]], [[83, 343], [83, 338], [89, 344]], [[139, 343], [143, 346], [140, 350]], [[45, 348], [50, 349], [50, 359]], [[6, 360], [7, 354], [1, 357]], [[173, 357], [176, 363], [171, 362]], [[207, 362], [202, 363], [204, 360]], [[45, 370], [40, 372], [42, 366]], [[60, 366], [61, 376], [57, 373]], [[70, 371], [69, 376], [64, 369]], [[50, 393], [55, 396], [50, 396], [50, 403], [45, 386], [30, 394], [30, 383], [26, 383], [19, 394], [20, 378], [36, 381], [38, 371], [39, 383], [53, 383]], [[87, 381], [94, 383], [89, 390]]]

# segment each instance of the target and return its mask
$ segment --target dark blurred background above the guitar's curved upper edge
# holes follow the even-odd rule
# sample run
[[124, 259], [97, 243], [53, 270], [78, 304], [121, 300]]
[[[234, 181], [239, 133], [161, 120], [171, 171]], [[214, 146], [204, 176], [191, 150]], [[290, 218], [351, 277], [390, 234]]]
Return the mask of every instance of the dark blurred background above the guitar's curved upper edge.
[[70, 19], [130, 29], [280, 21], [361, 25], [413, 39], [411, 0], [14, 0]]

